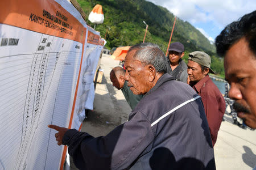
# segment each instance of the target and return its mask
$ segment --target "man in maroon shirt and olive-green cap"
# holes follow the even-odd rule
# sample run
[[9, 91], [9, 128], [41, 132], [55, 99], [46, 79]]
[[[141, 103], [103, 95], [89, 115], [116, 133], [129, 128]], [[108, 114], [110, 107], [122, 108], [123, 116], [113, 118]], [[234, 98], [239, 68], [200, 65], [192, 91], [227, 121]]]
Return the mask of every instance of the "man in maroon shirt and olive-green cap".
[[225, 113], [225, 100], [208, 75], [214, 74], [210, 69], [210, 56], [199, 51], [192, 52], [188, 56], [188, 83], [202, 97], [214, 146]]

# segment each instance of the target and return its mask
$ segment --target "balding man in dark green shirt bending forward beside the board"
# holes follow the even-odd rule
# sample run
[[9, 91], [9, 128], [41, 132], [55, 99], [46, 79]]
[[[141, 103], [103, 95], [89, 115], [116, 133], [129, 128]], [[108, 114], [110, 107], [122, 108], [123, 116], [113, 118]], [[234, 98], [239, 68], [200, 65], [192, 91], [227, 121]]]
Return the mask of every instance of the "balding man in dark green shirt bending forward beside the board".
[[123, 96], [125, 96], [127, 103], [130, 105], [131, 109], [134, 109], [139, 103], [139, 100], [142, 99], [143, 95], [134, 95], [127, 86], [125, 70], [122, 67], [114, 67], [110, 71], [110, 80], [115, 88], [123, 92]]

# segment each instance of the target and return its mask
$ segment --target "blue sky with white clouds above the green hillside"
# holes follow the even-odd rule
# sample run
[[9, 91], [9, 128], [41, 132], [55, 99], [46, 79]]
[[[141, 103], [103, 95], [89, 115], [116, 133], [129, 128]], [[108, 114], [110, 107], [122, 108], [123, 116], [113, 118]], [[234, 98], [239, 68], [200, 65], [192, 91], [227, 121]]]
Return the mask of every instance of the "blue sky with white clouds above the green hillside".
[[146, 0], [166, 7], [178, 18], [191, 23], [209, 40], [225, 26], [256, 10], [255, 0]]

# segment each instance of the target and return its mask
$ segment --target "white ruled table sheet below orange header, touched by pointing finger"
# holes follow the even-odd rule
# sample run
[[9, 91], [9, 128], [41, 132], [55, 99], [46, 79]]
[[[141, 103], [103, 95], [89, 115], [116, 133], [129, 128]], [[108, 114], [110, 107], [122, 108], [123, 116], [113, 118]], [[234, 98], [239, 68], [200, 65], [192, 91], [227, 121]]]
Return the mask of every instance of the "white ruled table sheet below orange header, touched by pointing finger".
[[[82, 44], [4, 26], [18, 29], [21, 36], [16, 37], [18, 45], [11, 46], [9, 53], [0, 56], [0, 169], [42, 169], [42, 166], [47, 169], [47, 164], [59, 159], [47, 158], [52, 155], [49, 152], [56, 151], [61, 155], [61, 148], [54, 146], [56, 143], [51, 139], [54, 131], [49, 130], [47, 124], [67, 124]], [[3, 35], [5, 39], [14, 37], [11, 31], [2, 32], [0, 42]], [[27, 35], [33, 41], [28, 51], [34, 53], [22, 53], [22, 48], [26, 46], [22, 40]], [[3, 50], [6, 46], [1, 48]]]

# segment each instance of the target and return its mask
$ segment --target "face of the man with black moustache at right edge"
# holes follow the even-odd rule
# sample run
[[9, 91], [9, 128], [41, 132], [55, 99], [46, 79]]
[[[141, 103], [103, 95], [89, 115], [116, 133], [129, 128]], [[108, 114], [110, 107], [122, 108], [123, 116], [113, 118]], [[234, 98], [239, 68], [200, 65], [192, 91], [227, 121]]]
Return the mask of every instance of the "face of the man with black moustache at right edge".
[[236, 100], [233, 105], [237, 116], [245, 124], [256, 129], [256, 56], [242, 38], [226, 52], [224, 58], [226, 80], [231, 85], [229, 97]]

